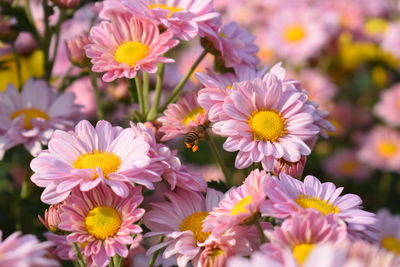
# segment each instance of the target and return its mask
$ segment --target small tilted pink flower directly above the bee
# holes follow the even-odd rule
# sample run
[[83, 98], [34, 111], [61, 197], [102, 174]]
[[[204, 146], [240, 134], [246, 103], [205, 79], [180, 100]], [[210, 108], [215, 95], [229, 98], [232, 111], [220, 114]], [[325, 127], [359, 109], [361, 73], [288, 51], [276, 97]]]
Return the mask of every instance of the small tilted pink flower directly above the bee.
[[161, 141], [191, 132], [194, 128], [208, 123], [207, 112], [197, 103], [197, 91], [187, 93], [177, 103], [169, 104], [164, 116], [158, 118], [162, 123]]

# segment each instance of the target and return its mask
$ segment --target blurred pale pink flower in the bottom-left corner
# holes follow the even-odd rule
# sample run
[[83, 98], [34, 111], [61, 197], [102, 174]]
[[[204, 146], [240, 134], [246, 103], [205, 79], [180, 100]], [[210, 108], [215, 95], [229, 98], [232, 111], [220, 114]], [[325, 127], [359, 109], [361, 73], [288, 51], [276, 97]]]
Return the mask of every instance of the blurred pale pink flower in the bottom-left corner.
[[34, 235], [21, 235], [15, 232], [2, 240], [0, 231], [0, 266], [60, 266], [60, 263], [47, 257], [52, 243], [42, 242]]

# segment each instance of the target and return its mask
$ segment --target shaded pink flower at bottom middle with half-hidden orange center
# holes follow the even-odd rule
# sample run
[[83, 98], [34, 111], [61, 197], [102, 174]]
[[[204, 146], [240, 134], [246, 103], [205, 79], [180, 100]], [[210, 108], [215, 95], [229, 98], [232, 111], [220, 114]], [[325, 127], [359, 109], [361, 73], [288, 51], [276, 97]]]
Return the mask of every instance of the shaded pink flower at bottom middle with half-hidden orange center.
[[163, 257], [176, 256], [178, 266], [186, 264], [199, 255], [202, 244], [210, 233], [203, 230], [203, 220], [217, 206], [223, 194], [208, 189], [207, 195], [178, 189], [166, 193], [167, 202], [152, 203], [152, 209], [144, 216], [149, 236], [165, 236], [162, 243], [151, 247], [148, 254], [166, 247]]

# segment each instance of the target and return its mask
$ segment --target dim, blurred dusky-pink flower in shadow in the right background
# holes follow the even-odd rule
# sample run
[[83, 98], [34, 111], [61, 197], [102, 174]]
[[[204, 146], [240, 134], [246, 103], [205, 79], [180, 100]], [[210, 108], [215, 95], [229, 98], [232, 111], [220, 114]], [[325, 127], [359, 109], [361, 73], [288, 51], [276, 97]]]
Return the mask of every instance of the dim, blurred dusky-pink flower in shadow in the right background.
[[335, 151], [324, 160], [323, 166], [326, 173], [335, 179], [351, 178], [355, 181], [363, 181], [370, 173], [370, 168], [361, 163], [356, 151], [351, 149]]

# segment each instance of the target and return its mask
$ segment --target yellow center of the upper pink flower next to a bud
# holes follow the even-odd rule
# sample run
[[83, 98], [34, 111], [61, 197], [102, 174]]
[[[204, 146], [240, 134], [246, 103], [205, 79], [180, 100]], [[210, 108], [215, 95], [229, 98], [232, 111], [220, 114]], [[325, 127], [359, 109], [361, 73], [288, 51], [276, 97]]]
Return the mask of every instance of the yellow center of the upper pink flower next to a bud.
[[120, 45], [115, 51], [115, 60], [134, 67], [136, 63], [149, 54], [149, 47], [139, 42], [127, 42]]

